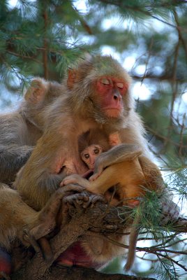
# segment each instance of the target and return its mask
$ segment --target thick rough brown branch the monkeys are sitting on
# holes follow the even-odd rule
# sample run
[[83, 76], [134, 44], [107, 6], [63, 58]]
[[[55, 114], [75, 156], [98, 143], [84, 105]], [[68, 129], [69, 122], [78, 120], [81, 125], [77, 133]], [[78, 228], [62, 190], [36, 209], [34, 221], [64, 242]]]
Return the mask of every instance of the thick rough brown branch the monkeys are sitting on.
[[[20, 273], [22, 273], [22, 280], [24, 279], [47, 280], [47, 279], [54, 279], [54, 277], [55, 280], [57, 280], [58, 279], [57, 276], [55, 276], [53, 273], [52, 275], [50, 275], [48, 269], [50, 268], [50, 265], [52, 265], [52, 262], [56, 260], [56, 258], [59, 256], [59, 254], [65, 251], [66, 248], [70, 246], [70, 244], [73, 244], [73, 242], [76, 241], [78, 237], [82, 235], [86, 235], [87, 230], [92, 230], [94, 232], [97, 231], [103, 233], [104, 235], [108, 235], [108, 234], [112, 234], [112, 232], [113, 233], [116, 232], [118, 229], [126, 228], [125, 218], [128, 217], [128, 212], [124, 213], [124, 209], [121, 208], [108, 209], [107, 205], [105, 204], [97, 204], [96, 207], [89, 208], [89, 209], [83, 209], [80, 206], [79, 207], [77, 206], [77, 208], [70, 207], [69, 214], [70, 216], [72, 216], [71, 221], [63, 227], [61, 232], [59, 232], [59, 234], [56, 237], [54, 237], [51, 240], [52, 251], [54, 252], [53, 260], [51, 262], [45, 262], [41, 257], [41, 255], [35, 255], [33, 259], [27, 263], [26, 267], [22, 269], [22, 272], [17, 272], [16, 274], [13, 275], [12, 277], [13, 280], [20, 279], [19, 278]], [[124, 220], [121, 220], [121, 217], [123, 217]], [[187, 232], [187, 220], [185, 218], [179, 218], [177, 221], [173, 221], [171, 231]], [[56, 269], [55, 271], [57, 272], [57, 270], [58, 269]], [[92, 269], [89, 270], [92, 271]], [[85, 269], [85, 271], [87, 271], [87, 269]], [[124, 276], [119, 276], [119, 277], [124, 277]], [[103, 276], [101, 278], [104, 279]], [[66, 279], [66, 277], [64, 279]], [[74, 279], [74, 278], [70, 278], [70, 279]], [[80, 279], [87, 279], [87, 278], [83, 277]], [[91, 278], [89, 277], [89, 279]], [[114, 278], [114, 279], [136, 279], [136, 278]]]

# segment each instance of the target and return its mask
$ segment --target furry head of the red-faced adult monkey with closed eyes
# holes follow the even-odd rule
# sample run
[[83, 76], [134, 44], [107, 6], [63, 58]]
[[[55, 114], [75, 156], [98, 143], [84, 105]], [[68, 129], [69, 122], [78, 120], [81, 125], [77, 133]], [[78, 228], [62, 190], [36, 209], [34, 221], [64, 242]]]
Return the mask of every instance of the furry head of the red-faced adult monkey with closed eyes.
[[114, 123], [133, 108], [130, 76], [112, 57], [96, 56], [80, 62], [77, 69], [68, 72], [67, 85], [77, 102], [75, 110], [97, 123]]

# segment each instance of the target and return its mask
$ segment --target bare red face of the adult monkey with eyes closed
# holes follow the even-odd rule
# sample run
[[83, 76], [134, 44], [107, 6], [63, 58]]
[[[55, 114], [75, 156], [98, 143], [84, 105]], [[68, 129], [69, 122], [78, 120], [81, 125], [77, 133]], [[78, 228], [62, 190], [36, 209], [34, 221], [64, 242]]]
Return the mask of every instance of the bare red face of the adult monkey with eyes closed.
[[110, 118], [118, 118], [124, 109], [122, 97], [128, 90], [128, 84], [118, 78], [102, 77], [96, 82], [100, 94], [101, 109]]

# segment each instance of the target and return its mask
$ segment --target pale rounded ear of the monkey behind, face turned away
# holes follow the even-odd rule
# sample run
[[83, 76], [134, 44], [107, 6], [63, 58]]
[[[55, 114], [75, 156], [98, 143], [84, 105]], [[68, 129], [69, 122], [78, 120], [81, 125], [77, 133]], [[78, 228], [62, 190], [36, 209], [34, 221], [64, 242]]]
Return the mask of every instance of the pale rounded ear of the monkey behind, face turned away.
[[38, 104], [43, 99], [45, 83], [42, 80], [32, 80], [30, 87], [24, 94], [24, 99], [33, 104]]

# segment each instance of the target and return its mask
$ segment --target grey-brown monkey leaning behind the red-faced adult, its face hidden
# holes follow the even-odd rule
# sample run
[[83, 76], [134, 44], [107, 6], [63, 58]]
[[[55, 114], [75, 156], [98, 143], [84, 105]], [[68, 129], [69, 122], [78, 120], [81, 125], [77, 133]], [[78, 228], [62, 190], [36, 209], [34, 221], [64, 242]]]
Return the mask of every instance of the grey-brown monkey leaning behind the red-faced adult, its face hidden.
[[36, 78], [24, 95], [20, 108], [0, 115], [0, 181], [11, 183], [27, 162], [41, 137], [44, 113], [61, 94], [61, 85]]

